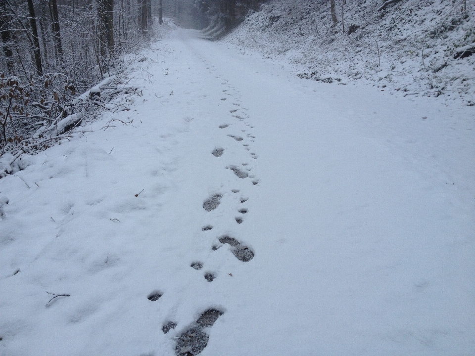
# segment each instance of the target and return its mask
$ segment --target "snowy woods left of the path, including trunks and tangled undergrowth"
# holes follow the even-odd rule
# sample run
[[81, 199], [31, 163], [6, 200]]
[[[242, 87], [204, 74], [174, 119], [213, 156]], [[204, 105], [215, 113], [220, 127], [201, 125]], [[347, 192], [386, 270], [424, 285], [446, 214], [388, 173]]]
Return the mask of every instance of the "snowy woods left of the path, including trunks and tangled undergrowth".
[[34, 153], [61, 120], [94, 115], [103, 98], [74, 98], [116, 74], [151, 26], [151, 0], [0, 0], [0, 155]]

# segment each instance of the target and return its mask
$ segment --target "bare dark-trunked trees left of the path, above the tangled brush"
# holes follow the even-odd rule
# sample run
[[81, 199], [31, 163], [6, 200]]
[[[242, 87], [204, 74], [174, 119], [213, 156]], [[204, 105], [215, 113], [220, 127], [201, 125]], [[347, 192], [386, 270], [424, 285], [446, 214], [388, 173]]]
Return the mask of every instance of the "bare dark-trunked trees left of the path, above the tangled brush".
[[0, 0], [0, 72], [87, 86], [151, 29], [151, 0]]

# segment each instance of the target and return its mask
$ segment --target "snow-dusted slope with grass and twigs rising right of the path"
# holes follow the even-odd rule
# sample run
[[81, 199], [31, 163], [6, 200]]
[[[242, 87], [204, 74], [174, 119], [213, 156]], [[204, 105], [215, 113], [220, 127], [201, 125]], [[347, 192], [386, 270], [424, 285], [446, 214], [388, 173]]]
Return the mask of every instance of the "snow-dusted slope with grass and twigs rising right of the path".
[[269, 1], [227, 41], [285, 58], [302, 78], [365, 80], [404, 96], [475, 105], [474, 1], [403, 0], [380, 9], [383, 3], [347, 0], [342, 16], [337, 0], [334, 24], [330, 1]]

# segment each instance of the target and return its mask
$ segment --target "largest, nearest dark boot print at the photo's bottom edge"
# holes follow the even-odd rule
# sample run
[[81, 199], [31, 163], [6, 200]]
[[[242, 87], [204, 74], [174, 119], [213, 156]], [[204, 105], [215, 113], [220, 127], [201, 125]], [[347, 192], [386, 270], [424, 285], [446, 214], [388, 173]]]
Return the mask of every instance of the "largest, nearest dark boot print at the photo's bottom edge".
[[185, 331], [177, 342], [175, 354], [177, 356], [194, 356], [201, 353], [208, 345], [209, 336], [203, 331], [203, 328], [211, 327], [223, 315], [216, 309], [208, 309], [202, 313], [196, 320], [195, 325]]

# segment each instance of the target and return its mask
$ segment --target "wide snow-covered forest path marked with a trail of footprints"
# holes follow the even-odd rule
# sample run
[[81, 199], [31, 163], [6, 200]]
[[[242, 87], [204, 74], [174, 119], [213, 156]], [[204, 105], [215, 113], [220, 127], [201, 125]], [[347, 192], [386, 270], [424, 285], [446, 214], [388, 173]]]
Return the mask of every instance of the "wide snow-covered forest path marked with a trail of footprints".
[[473, 109], [144, 56], [130, 111], [0, 179], [0, 355], [475, 350]]

